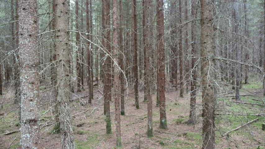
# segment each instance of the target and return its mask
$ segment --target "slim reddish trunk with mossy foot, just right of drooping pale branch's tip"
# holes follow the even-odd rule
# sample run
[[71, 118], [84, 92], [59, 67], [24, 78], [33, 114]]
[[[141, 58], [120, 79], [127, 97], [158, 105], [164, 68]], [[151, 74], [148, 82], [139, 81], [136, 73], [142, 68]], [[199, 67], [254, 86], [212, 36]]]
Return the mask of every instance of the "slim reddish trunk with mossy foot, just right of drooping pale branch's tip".
[[138, 50], [137, 50], [137, 22], [136, 22], [136, 0], [132, 2], [132, 37], [133, 37], [133, 71], [134, 71], [134, 93], [135, 93], [135, 107], [139, 109], [139, 95], [138, 95]]

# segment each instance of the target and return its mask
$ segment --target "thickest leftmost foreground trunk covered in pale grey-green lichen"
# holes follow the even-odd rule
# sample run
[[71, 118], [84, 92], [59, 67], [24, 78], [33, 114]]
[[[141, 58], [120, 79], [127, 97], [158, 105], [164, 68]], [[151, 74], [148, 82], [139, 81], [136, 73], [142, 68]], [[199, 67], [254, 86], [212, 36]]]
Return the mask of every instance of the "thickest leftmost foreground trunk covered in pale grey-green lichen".
[[20, 0], [19, 61], [21, 82], [21, 148], [38, 148], [40, 143], [39, 56], [37, 1]]

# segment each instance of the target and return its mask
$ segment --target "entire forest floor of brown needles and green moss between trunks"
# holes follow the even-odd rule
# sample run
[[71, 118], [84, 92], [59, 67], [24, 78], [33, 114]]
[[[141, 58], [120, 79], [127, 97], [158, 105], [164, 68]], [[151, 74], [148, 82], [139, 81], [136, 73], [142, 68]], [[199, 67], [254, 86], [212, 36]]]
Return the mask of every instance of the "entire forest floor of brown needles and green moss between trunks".
[[[86, 87], [86, 86], [85, 86]], [[189, 118], [190, 93], [185, 93], [184, 97], [179, 97], [179, 90], [175, 91], [170, 84], [167, 84], [166, 90], [166, 112], [167, 112], [167, 130], [159, 129], [159, 107], [156, 107], [156, 95], [153, 95], [153, 137], [147, 138], [147, 102], [144, 100], [144, 92], [139, 92], [139, 109], [135, 109], [134, 92], [131, 87], [125, 100], [125, 115], [121, 115], [121, 139], [122, 148], [125, 149], [191, 149], [201, 148], [202, 145], [202, 117], [201, 117], [201, 96], [197, 96], [197, 124], [188, 125], [186, 121]], [[48, 90], [48, 89], [47, 89]], [[220, 89], [216, 108], [216, 113], [226, 113], [230, 115], [216, 115], [216, 148], [258, 148], [265, 147], [265, 131], [262, 130], [262, 124], [265, 118], [249, 114], [263, 114], [264, 106], [239, 104], [229, 101], [235, 101], [235, 95], [231, 89]], [[41, 124], [49, 123], [51, 112], [49, 107], [54, 104], [47, 104], [53, 99], [49, 99], [50, 91], [42, 91], [41, 106]], [[12, 92], [6, 90], [6, 95], [0, 99], [4, 104], [0, 110], [0, 133], [6, 133], [18, 130], [18, 113], [14, 108], [17, 105], [12, 103]], [[201, 92], [200, 92], [201, 93]], [[80, 104], [80, 101], [87, 100], [86, 91], [71, 95], [74, 102], [71, 102], [72, 119], [75, 145], [77, 149], [113, 149], [116, 148], [115, 141], [115, 114], [114, 101], [110, 102], [112, 134], [106, 134], [106, 122], [103, 115], [103, 95], [102, 87], [94, 87], [94, 100], [92, 104]], [[252, 96], [242, 96], [238, 102], [249, 102], [263, 104], [260, 101], [252, 99], [263, 99], [262, 83], [252, 81], [244, 84], [240, 89], [240, 95], [253, 94]], [[84, 97], [78, 99], [76, 97]], [[15, 109], [15, 110], [14, 110]], [[8, 114], [7, 114], [8, 113]], [[231, 115], [234, 113], [234, 115]], [[7, 114], [7, 115], [6, 115]], [[236, 115], [246, 114], [246, 115]], [[258, 118], [259, 120], [248, 124], [241, 129], [229, 133], [229, 136], [222, 137], [225, 132], [235, 129], [248, 121]], [[51, 134], [53, 125], [43, 127], [41, 130], [41, 148], [59, 149], [60, 134]], [[0, 148], [20, 148], [19, 139], [21, 134], [13, 133], [0, 136]]]

